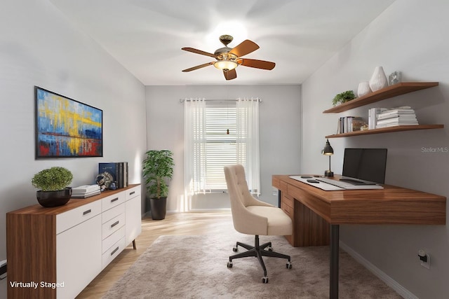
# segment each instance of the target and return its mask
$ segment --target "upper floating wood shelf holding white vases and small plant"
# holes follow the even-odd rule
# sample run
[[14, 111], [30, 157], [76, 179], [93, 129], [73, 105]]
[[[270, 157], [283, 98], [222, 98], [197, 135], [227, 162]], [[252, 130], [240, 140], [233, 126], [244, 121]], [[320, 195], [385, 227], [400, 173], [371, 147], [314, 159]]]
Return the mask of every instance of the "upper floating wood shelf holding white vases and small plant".
[[[426, 88], [432, 88], [438, 86], [438, 82], [402, 82], [395, 85], [382, 88], [376, 92], [371, 92], [363, 97], [358, 97], [349, 102], [340, 104], [333, 108], [323, 111], [323, 113], [338, 113], [354, 109], [356, 107], [364, 106], [367, 104], [382, 101], [382, 99], [388, 99], [390, 97], [396, 97], [398, 95], [404, 95], [409, 92], [415, 92], [417, 90], [423, 90]], [[374, 133], [373, 133], [374, 134]]]

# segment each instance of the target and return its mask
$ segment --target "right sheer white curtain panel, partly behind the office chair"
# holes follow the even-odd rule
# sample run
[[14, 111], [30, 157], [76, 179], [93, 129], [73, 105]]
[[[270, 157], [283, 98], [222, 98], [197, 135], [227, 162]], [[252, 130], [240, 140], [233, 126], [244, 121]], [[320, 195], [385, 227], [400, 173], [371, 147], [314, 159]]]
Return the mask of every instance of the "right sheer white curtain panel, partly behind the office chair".
[[237, 99], [236, 131], [237, 163], [245, 167], [250, 192], [260, 195], [259, 99]]

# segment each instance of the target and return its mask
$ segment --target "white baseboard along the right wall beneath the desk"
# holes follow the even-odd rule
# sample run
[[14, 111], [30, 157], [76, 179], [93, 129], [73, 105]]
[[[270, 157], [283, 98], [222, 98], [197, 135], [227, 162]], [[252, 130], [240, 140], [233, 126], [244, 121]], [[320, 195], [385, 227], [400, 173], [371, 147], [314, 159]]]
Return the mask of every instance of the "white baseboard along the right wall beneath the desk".
[[403, 298], [406, 299], [419, 299], [417, 296], [413, 295], [413, 293], [410, 293], [406, 288], [401, 286], [396, 280], [389, 277], [385, 272], [380, 270], [378, 267], [370, 263], [369, 260], [366, 258], [363, 258], [360, 254], [358, 254], [356, 251], [351, 249], [351, 247], [347, 246], [347, 244], [344, 244], [344, 242], [340, 241], [340, 248], [346, 251], [349, 256], [352, 256], [354, 260], [357, 260], [358, 263], [361, 263], [363, 266], [365, 266], [370, 272], [375, 274], [375, 276], [379, 277], [382, 281], [384, 281], [385, 284], [390, 286], [394, 289], [399, 295], [401, 295]]

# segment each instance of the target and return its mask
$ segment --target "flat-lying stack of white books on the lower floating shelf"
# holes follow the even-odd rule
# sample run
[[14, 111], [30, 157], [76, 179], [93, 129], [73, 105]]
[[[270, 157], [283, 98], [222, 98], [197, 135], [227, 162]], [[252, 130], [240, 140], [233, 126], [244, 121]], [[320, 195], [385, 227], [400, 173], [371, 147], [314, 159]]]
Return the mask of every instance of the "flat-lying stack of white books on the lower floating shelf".
[[415, 110], [409, 106], [387, 109], [377, 114], [376, 128], [398, 125], [418, 125]]

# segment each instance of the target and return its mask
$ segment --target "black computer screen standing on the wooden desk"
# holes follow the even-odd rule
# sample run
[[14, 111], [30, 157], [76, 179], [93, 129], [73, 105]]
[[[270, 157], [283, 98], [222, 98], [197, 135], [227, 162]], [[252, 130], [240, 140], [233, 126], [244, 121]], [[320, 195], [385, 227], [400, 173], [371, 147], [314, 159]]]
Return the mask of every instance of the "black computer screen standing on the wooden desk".
[[385, 182], [387, 148], [344, 148], [343, 176]]

